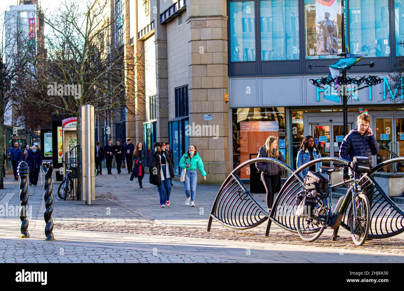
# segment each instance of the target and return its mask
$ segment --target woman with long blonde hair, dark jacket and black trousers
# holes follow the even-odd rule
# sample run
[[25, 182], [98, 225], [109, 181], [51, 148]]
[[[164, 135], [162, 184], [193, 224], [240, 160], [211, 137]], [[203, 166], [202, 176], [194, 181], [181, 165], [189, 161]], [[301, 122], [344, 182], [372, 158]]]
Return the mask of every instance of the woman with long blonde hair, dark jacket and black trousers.
[[[267, 138], [265, 145], [258, 150], [257, 158], [273, 158], [285, 162], [282, 153], [278, 150], [278, 138], [273, 135]], [[271, 210], [274, 194], [280, 190], [280, 171], [281, 166], [272, 162], [256, 162], [255, 167], [261, 171], [261, 181], [267, 192], [267, 208]]]

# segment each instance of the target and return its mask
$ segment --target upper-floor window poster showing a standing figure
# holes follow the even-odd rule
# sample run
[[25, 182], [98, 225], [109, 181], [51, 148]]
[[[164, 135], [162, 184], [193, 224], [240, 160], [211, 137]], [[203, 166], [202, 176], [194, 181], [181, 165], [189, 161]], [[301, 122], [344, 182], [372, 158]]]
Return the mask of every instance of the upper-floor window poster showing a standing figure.
[[307, 56], [341, 53], [341, 1], [316, 0], [306, 4], [305, 10]]

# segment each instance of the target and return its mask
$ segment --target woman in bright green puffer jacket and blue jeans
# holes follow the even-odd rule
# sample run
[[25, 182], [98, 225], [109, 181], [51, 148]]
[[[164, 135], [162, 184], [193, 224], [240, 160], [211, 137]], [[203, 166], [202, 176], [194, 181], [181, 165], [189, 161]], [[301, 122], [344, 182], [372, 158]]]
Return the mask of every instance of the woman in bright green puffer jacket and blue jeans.
[[185, 169], [185, 195], [187, 199], [185, 200], [185, 206], [189, 205], [195, 207], [195, 191], [196, 182], [198, 180], [198, 173], [196, 168], [199, 169], [204, 180], [206, 180], [206, 172], [203, 168], [202, 158], [198, 154], [198, 150], [195, 145], [189, 145], [189, 151], [185, 153], [181, 160], [179, 161], [179, 166], [181, 169]]

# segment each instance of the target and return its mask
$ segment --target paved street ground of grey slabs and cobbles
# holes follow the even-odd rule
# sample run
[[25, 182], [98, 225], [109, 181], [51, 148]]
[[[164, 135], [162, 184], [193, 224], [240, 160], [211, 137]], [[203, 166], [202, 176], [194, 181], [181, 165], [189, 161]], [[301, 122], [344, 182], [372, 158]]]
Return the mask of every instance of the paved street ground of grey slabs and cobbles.
[[[207, 232], [210, 208], [220, 185], [198, 185], [197, 207], [187, 207], [184, 205], [183, 183], [173, 181], [170, 206], [160, 208], [157, 187], [148, 183], [148, 175], [143, 180], [142, 189], [137, 181], [129, 181], [129, 176], [98, 176], [96, 201], [91, 206], [69, 198], [60, 200], [55, 191], [58, 185], [54, 184], [56, 241], [53, 242], [42, 241], [43, 188], [29, 187], [29, 205], [33, 212], [29, 231], [32, 238], [16, 239], [20, 224], [18, 214], [0, 216], [1, 245], [8, 246], [0, 247], [0, 261], [15, 262], [18, 249], [31, 246], [29, 249], [37, 250], [31, 252], [35, 256], [29, 257], [34, 262], [181, 262], [181, 259], [182, 262], [312, 262], [314, 257], [319, 261], [357, 262], [358, 256], [360, 262], [404, 262], [404, 235], [374, 239], [356, 247], [350, 233], [342, 228], [338, 241], [331, 241], [332, 230], [326, 230], [312, 243], [301, 241], [297, 234], [275, 224], [272, 224], [269, 237], [264, 237], [266, 222], [244, 231], [213, 222], [211, 231]], [[0, 206], [5, 203], [18, 206], [18, 183], [10, 179], [6, 181], [6, 187], [8, 189], [0, 190], [3, 194]], [[265, 205], [264, 195], [255, 197]], [[124, 249], [128, 241], [131, 248]], [[61, 247], [67, 255], [59, 255]], [[158, 252], [166, 252], [164, 258], [153, 254], [154, 247]], [[170, 249], [175, 249], [175, 252], [170, 252]], [[246, 249], [251, 249], [248, 257]], [[286, 259], [286, 255], [279, 258], [288, 251]], [[347, 256], [338, 256], [347, 252]]]

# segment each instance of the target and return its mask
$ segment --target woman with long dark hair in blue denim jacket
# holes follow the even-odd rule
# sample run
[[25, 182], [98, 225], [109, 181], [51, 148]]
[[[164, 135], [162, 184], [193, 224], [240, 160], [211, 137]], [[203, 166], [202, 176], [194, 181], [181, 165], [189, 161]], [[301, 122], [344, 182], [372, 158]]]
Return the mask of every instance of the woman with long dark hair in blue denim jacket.
[[[321, 158], [321, 155], [320, 151], [314, 144], [314, 137], [312, 137], [311, 135], [306, 135], [303, 138], [302, 144], [300, 145], [299, 148], [299, 152], [297, 153], [297, 164], [296, 164], [297, 168], [300, 168], [301, 165], [311, 160], [316, 160], [319, 158]], [[322, 166], [321, 162], [311, 165], [309, 168], [305, 168], [303, 171], [301, 171], [299, 175], [304, 179], [309, 170], [313, 172], [318, 172], [321, 166]]]

